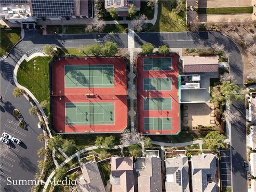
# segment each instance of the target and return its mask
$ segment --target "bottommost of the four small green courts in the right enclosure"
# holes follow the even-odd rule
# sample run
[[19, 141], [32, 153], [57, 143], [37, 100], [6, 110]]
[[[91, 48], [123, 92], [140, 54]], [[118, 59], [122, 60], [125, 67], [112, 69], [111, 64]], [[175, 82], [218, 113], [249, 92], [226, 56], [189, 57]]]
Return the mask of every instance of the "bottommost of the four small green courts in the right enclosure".
[[144, 130], [172, 130], [172, 118], [144, 117]]

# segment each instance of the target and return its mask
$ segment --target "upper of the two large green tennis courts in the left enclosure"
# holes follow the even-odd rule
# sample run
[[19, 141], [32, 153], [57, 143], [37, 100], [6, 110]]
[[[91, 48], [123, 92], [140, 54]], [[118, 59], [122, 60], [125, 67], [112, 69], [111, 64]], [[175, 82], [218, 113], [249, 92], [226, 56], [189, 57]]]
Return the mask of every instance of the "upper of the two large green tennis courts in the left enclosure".
[[67, 65], [65, 87], [114, 87], [114, 66]]

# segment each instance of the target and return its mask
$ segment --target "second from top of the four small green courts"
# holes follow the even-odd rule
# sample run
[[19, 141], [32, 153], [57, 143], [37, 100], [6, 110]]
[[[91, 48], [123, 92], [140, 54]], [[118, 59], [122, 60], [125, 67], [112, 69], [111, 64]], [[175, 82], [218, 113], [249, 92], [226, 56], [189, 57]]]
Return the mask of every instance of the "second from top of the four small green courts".
[[144, 91], [168, 91], [172, 89], [172, 78], [143, 78]]

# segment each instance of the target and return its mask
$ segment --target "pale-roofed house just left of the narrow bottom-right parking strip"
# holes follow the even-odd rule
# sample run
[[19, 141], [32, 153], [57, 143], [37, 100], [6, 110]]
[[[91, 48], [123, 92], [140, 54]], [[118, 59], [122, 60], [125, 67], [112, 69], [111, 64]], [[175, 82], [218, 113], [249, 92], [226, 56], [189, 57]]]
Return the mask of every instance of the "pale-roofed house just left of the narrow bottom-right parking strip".
[[192, 190], [217, 192], [218, 162], [213, 154], [191, 156]]

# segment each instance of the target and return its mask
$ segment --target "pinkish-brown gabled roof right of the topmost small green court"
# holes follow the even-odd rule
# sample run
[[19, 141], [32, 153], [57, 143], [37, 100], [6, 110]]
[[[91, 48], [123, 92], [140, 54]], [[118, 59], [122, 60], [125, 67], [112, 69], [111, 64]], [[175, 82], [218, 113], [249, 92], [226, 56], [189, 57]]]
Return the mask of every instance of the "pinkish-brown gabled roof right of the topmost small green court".
[[218, 72], [218, 57], [183, 57], [183, 73]]

